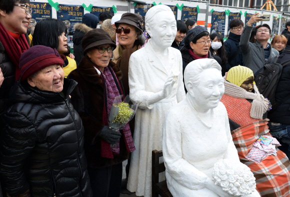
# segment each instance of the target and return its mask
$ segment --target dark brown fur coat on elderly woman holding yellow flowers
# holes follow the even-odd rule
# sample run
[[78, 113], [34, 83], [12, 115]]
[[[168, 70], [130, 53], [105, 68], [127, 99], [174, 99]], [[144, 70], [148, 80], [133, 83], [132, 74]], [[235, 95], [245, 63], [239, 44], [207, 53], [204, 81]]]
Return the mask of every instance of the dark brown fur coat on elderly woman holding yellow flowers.
[[[116, 74], [116, 80], [120, 81], [122, 72], [119, 67], [112, 61], [109, 62], [108, 66]], [[77, 68], [71, 71], [67, 78], [73, 79], [78, 83], [70, 95], [71, 102], [83, 122], [84, 148], [88, 167], [106, 167], [127, 159], [129, 153], [126, 150], [123, 135], [121, 135], [119, 140], [119, 154], [114, 155], [114, 158], [105, 158], [100, 155], [101, 138], [98, 136], [98, 133], [104, 126], [102, 122], [104, 83], [101, 76], [96, 72], [92, 62], [83, 57]], [[116, 85], [121, 94], [119, 85], [117, 83]]]

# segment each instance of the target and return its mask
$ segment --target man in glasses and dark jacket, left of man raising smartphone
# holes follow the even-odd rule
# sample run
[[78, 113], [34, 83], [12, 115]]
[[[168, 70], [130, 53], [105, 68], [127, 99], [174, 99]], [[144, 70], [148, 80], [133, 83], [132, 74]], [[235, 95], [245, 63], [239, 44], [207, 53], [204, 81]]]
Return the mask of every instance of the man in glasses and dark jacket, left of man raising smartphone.
[[233, 19], [229, 23], [229, 35], [224, 42], [224, 48], [227, 54], [227, 69], [236, 65], [243, 65], [243, 57], [239, 48], [239, 39], [243, 29], [241, 19]]

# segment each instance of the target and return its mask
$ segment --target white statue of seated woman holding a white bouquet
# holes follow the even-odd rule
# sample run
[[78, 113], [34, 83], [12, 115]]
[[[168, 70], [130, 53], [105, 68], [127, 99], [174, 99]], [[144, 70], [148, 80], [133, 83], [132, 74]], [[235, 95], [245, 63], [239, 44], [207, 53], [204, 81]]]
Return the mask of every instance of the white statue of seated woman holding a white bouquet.
[[[169, 109], [162, 151], [167, 186], [174, 197], [232, 196], [215, 185], [214, 163], [239, 162], [224, 105], [221, 67], [214, 59], [197, 59], [184, 71], [186, 98]], [[260, 196], [254, 189], [250, 197]]]

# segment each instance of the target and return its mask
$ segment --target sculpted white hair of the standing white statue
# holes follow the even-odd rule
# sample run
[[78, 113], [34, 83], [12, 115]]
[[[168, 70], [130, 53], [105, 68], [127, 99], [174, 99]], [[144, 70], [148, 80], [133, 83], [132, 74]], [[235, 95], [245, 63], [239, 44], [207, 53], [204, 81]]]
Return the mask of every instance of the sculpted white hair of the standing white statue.
[[[146, 15], [145, 15], [145, 24], [149, 25], [149, 26], [154, 26], [156, 24], [156, 22], [158, 21], [158, 19], [155, 18], [156, 13], [159, 13], [161, 11], [170, 11], [173, 14], [173, 11], [171, 10], [171, 8], [167, 5], [155, 5], [153, 7], [151, 7]], [[174, 16], [174, 14], [173, 14]]]

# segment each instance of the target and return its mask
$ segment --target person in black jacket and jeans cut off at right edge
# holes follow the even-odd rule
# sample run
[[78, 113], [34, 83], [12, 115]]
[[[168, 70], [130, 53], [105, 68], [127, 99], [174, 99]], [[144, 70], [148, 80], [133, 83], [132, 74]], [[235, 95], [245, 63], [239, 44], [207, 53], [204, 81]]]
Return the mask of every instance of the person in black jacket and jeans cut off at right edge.
[[[277, 63], [290, 59], [290, 39], [288, 39], [284, 52], [279, 55]], [[275, 100], [280, 103], [276, 108], [269, 110], [268, 125], [270, 133], [281, 141], [279, 148], [290, 158], [290, 63], [283, 66], [279, 82], [275, 91]]]

